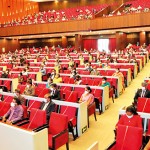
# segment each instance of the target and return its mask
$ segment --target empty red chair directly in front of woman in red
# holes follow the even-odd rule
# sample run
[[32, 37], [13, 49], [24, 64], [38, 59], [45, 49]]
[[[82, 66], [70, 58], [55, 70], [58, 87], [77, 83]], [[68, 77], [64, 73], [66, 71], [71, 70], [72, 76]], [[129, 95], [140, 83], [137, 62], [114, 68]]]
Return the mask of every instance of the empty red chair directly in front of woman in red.
[[140, 150], [142, 148], [142, 128], [119, 125], [116, 142], [107, 150]]

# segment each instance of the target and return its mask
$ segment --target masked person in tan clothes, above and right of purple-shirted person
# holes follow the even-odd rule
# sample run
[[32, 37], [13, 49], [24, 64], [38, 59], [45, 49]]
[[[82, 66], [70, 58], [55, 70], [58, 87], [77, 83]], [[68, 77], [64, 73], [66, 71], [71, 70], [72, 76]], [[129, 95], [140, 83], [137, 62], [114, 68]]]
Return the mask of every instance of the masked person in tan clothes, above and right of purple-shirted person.
[[32, 85], [32, 81], [28, 80], [26, 88], [23, 92], [24, 95], [34, 96], [35, 95], [35, 87]]

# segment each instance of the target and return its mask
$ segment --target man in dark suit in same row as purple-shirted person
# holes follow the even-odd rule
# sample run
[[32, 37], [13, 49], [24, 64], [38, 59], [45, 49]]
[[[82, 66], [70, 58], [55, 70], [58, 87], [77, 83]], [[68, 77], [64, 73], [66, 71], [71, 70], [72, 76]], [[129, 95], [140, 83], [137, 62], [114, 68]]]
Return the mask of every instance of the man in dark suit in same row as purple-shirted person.
[[50, 94], [46, 94], [44, 98], [46, 99], [46, 102], [42, 103], [40, 109], [46, 111], [46, 119], [49, 121], [50, 113], [55, 111], [55, 103], [51, 100]]

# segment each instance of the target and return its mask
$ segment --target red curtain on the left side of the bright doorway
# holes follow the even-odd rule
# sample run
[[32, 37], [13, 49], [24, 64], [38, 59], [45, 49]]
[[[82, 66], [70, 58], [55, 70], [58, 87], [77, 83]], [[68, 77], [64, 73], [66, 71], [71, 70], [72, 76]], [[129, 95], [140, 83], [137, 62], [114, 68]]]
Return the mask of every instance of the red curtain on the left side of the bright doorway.
[[97, 39], [85, 39], [83, 40], [83, 47], [86, 48], [87, 50], [92, 49], [97, 49]]

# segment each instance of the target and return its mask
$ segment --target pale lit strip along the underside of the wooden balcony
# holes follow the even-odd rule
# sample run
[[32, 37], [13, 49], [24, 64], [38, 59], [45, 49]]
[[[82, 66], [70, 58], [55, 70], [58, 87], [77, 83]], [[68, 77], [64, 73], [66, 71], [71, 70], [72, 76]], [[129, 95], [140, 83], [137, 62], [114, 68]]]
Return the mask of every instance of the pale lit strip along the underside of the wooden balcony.
[[68, 33], [56, 33], [56, 34], [38, 34], [38, 35], [23, 35], [23, 36], [10, 36], [10, 37], [2, 37], [6, 39], [36, 39], [36, 38], [51, 38], [51, 37], [62, 37], [62, 36], [75, 36], [75, 34], [80, 34], [83, 36], [86, 35], [108, 35], [115, 34], [116, 32], [125, 32], [125, 33], [134, 33], [134, 32], [146, 32], [150, 31], [150, 27], [140, 27], [140, 28], [125, 28], [125, 29], [114, 29], [114, 30], [99, 30], [99, 31], [84, 31], [84, 32], [68, 32]]

